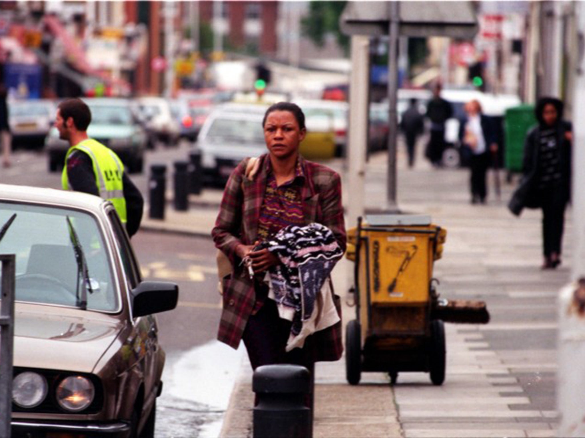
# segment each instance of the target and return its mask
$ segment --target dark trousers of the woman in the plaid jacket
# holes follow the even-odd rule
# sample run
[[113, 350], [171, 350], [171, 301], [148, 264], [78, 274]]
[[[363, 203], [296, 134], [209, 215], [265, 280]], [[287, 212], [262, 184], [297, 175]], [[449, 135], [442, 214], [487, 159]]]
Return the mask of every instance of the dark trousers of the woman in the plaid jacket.
[[[293, 364], [301, 365], [311, 373], [311, 394], [305, 403], [312, 409], [315, 382], [315, 361], [307, 349], [295, 348], [285, 351], [291, 322], [278, 316], [278, 308], [274, 300], [265, 298], [264, 305], [256, 313], [250, 315], [242, 339], [252, 369], [262, 365]], [[257, 400], [256, 403], [257, 404]]]

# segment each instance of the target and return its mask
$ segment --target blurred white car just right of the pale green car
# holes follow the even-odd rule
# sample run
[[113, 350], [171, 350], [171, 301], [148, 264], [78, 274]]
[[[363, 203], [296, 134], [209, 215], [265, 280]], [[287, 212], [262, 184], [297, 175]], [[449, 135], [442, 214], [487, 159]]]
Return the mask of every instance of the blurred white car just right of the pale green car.
[[181, 134], [180, 120], [173, 116], [167, 99], [153, 96], [138, 98], [136, 108], [140, 123], [156, 140], [167, 146], [177, 145]]

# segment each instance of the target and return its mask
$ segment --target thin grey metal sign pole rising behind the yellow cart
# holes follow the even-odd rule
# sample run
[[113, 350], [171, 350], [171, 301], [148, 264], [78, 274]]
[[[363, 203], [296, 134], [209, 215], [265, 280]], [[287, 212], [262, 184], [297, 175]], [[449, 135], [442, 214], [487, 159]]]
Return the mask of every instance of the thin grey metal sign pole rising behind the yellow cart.
[[387, 210], [397, 211], [396, 199], [396, 143], [398, 140], [398, 117], [396, 112], [398, 92], [398, 27], [400, 25], [400, 2], [390, 2], [390, 27], [388, 29], [388, 181]]

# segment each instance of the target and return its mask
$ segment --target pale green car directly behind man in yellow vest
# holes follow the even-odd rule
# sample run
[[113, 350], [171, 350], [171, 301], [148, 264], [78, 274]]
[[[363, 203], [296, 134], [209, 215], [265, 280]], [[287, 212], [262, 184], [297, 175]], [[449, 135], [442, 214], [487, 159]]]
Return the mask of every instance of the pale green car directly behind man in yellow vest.
[[[130, 173], [142, 172], [147, 137], [135, 119], [128, 99], [83, 99], [91, 110], [91, 123], [87, 134], [111, 148], [122, 160]], [[69, 148], [60, 140], [57, 128], [51, 128], [45, 148], [49, 155], [49, 171], [63, 167]]]

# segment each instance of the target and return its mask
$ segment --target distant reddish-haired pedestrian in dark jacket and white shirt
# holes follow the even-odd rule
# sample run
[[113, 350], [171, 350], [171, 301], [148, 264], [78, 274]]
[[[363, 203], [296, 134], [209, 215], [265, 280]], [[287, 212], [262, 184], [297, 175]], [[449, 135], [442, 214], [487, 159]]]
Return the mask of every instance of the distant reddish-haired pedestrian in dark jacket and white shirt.
[[471, 151], [470, 187], [472, 204], [485, 204], [487, 196], [487, 169], [490, 167], [491, 154], [497, 152], [494, 130], [489, 117], [481, 113], [481, 105], [472, 100], [465, 105], [467, 120], [465, 121], [463, 144]]

